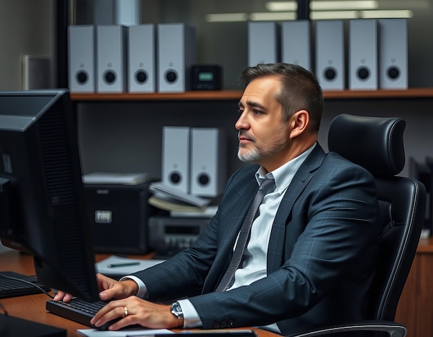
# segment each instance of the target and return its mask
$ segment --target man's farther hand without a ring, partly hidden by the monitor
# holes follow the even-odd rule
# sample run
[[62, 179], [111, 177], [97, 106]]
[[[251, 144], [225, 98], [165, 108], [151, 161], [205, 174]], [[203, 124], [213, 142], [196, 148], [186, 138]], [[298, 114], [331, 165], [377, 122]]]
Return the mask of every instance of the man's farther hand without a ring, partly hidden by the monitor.
[[[133, 280], [119, 282], [100, 273], [96, 274], [96, 280], [100, 291], [99, 296], [103, 301], [111, 300], [112, 298], [127, 298], [128, 296], [136, 295], [138, 292], [138, 285]], [[57, 291], [54, 300], [68, 302], [71, 298], [71, 294], [65, 293], [64, 291]]]

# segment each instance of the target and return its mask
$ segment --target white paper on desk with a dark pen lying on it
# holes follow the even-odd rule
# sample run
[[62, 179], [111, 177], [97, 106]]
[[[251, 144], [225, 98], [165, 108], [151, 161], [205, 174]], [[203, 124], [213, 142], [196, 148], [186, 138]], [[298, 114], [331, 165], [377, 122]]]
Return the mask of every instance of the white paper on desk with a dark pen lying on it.
[[[164, 261], [163, 259], [131, 259], [129, 257], [111, 255], [107, 257], [107, 259], [96, 263], [95, 269], [98, 273], [107, 276], [130, 275], [131, 273], [142, 271], [143, 269], [155, 266]], [[122, 264], [125, 264], [125, 266], [122, 266]]]

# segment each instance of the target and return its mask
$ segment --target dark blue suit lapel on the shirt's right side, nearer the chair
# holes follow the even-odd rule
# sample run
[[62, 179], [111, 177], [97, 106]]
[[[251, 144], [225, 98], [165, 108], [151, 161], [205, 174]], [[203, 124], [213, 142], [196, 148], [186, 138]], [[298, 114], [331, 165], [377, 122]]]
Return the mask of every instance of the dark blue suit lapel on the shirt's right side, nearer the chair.
[[291, 181], [275, 215], [272, 230], [270, 232], [267, 271], [268, 274], [276, 271], [283, 263], [284, 243], [286, 242], [286, 225], [288, 215], [290, 215], [293, 203], [300, 196], [302, 191], [313, 176], [313, 171], [320, 167], [325, 153], [319, 144], [308, 155], [299, 170], [297, 170]]

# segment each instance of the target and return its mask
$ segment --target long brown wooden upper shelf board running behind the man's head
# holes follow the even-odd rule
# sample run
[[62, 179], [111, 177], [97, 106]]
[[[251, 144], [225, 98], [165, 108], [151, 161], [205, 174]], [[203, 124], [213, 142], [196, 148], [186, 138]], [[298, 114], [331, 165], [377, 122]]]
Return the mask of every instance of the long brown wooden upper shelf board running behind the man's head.
[[[187, 91], [185, 93], [71, 93], [74, 101], [104, 100], [239, 100], [241, 90]], [[324, 91], [325, 99], [357, 98], [433, 98], [433, 88], [407, 90]]]

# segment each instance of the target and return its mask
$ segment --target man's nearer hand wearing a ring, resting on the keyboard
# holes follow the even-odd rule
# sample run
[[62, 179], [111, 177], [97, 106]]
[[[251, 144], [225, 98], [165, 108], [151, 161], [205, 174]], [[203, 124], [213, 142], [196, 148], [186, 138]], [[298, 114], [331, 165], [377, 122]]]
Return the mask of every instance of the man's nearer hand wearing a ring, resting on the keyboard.
[[110, 325], [109, 330], [118, 330], [128, 325], [141, 325], [150, 329], [178, 327], [178, 319], [172, 314], [169, 305], [151, 303], [136, 296], [109, 302], [90, 322], [100, 327], [116, 318], [121, 319]]

